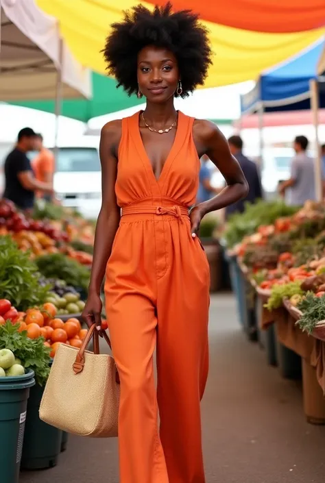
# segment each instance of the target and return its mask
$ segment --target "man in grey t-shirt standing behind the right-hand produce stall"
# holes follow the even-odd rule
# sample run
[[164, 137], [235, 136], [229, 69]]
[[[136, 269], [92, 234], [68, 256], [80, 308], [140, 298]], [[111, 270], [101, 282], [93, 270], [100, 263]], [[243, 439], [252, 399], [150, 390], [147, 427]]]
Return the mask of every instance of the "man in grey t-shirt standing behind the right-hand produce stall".
[[296, 137], [293, 142], [296, 156], [291, 161], [290, 178], [279, 186], [281, 195], [285, 195], [287, 190], [290, 190], [287, 203], [293, 206], [302, 206], [305, 201], [316, 199], [315, 161], [306, 153], [308, 145], [309, 141], [306, 136]]

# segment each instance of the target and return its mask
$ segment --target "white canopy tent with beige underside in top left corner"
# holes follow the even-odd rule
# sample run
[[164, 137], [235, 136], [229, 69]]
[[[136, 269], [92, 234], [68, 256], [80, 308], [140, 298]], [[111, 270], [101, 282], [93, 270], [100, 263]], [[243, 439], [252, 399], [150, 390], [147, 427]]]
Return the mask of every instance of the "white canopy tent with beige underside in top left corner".
[[90, 71], [60, 39], [58, 21], [34, 0], [0, 0], [0, 100], [90, 97]]

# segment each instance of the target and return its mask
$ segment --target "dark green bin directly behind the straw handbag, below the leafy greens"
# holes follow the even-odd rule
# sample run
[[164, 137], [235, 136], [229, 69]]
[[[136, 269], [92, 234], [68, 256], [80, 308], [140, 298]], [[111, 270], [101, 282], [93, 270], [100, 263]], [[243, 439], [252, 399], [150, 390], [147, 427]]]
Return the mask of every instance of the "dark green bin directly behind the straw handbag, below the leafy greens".
[[45, 469], [58, 463], [62, 431], [40, 420], [38, 411], [43, 392], [44, 388], [38, 384], [30, 391], [21, 469]]

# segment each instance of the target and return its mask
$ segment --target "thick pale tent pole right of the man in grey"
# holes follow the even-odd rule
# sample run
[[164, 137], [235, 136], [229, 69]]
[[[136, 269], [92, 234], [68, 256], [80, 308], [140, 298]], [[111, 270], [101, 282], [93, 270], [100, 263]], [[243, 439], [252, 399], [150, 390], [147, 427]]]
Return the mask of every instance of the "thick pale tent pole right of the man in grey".
[[311, 90], [311, 111], [313, 114], [313, 125], [315, 128], [315, 191], [317, 201], [323, 199], [323, 183], [322, 183], [322, 156], [320, 153], [320, 139], [318, 136], [318, 109], [319, 109], [319, 94], [318, 94], [318, 82], [316, 79], [311, 79], [309, 82]]

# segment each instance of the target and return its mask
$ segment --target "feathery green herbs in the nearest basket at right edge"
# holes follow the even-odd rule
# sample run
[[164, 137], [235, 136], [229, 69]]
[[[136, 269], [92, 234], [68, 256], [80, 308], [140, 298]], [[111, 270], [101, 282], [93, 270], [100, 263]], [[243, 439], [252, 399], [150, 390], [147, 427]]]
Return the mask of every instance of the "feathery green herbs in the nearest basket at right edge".
[[297, 321], [300, 329], [311, 334], [317, 322], [325, 320], [325, 297], [315, 297], [313, 293], [307, 293], [306, 297], [298, 304], [302, 317]]

